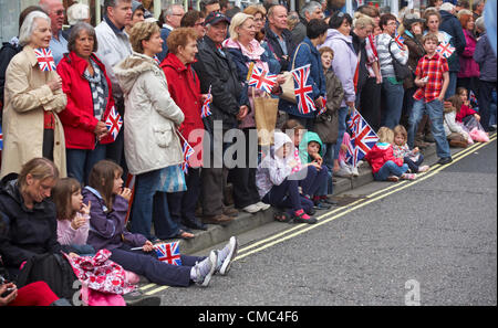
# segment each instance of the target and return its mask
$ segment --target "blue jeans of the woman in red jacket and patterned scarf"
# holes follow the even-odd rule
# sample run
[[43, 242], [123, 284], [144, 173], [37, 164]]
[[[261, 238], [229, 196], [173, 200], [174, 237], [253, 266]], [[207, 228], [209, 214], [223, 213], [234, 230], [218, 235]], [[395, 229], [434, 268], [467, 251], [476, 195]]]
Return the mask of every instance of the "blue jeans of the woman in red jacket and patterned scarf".
[[82, 184], [89, 184], [89, 176], [93, 166], [105, 159], [106, 145], [98, 144], [94, 150], [66, 149], [65, 160], [68, 177], [74, 178]]

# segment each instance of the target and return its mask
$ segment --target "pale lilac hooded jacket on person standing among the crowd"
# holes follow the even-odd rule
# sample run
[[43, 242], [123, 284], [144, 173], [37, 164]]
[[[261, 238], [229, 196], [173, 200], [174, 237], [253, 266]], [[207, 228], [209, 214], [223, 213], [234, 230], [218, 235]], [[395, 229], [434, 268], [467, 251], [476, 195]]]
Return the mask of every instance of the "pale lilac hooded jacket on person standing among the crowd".
[[335, 29], [329, 29], [326, 40], [322, 46], [329, 46], [334, 51], [332, 68], [341, 80], [344, 88], [344, 99], [341, 107], [345, 107], [345, 102], [354, 102], [356, 94], [354, 91], [354, 73], [356, 72], [357, 56], [353, 47], [352, 36], [346, 36]]

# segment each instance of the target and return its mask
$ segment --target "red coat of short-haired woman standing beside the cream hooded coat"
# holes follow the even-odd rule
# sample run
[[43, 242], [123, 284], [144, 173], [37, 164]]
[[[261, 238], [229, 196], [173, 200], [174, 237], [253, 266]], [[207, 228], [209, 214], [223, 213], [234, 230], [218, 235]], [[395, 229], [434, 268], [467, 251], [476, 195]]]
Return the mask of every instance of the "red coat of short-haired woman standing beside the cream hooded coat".
[[200, 100], [199, 78], [190, 64], [184, 65], [173, 53], [168, 53], [163, 63], [160, 63], [160, 67], [166, 75], [168, 91], [173, 100], [185, 115], [185, 120], [179, 127], [179, 131], [196, 150], [196, 155], [193, 156], [195, 159], [190, 159], [189, 163], [193, 167], [201, 167], [204, 133], [200, 136], [190, 136], [194, 130], [204, 131], [204, 123], [200, 118], [203, 102]]

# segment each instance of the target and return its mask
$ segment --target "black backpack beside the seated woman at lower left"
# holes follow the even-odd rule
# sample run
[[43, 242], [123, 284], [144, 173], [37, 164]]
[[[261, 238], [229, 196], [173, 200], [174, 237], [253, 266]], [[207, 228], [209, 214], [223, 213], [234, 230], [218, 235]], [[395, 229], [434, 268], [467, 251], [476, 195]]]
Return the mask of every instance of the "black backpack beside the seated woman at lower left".
[[74, 301], [74, 295], [79, 293], [80, 285], [75, 284], [79, 279], [62, 254], [34, 255], [27, 261], [15, 283], [20, 288], [40, 281], [45, 282], [60, 298]]

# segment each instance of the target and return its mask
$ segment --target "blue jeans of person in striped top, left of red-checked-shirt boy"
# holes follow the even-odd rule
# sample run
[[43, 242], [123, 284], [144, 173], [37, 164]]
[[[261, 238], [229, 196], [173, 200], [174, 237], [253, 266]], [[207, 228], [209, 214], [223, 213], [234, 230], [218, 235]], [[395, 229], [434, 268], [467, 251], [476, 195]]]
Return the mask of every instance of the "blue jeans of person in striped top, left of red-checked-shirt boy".
[[382, 82], [382, 104], [385, 109], [382, 113], [382, 126], [393, 129], [400, 124], [404, 93], [403, 84], [394, 84], [387, 77], [384, 78]]

